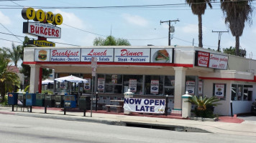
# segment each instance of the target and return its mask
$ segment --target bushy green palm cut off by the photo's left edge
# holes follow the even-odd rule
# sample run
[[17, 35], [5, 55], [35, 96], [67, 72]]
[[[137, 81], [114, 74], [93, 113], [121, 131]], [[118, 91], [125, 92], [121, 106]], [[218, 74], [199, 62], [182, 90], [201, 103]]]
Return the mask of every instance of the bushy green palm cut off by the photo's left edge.
[[0, 94], [1, 103], [4, 102], [6, 92], [11, 92], [13, 86], [19, 87], [18, 75], [9, 69], [10, 59], [6, 58], [6, 53], [0, 51]]

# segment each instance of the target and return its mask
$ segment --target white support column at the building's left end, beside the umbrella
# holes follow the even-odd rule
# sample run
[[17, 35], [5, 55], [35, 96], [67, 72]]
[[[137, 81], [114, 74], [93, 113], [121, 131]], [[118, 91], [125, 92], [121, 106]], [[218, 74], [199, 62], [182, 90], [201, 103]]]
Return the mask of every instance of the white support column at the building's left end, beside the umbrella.
[[36, 93], [38, 92], [40, 66], [39, 65], [29, 65], [29, 66], [30, 66], [29, 93]]

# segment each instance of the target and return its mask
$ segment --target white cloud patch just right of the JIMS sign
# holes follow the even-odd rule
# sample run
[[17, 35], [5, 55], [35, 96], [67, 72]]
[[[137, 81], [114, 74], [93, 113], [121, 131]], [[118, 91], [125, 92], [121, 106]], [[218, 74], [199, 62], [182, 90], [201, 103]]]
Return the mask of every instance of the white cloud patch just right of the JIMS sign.
[[83, 29], [84, 24], [81, 19], [76, 16], [76, 14], [60, 11], [59, 9], [52, 11], [53, 14], [61, 14], [63, 16], [63, 24], [76, 27], [78, 29]]

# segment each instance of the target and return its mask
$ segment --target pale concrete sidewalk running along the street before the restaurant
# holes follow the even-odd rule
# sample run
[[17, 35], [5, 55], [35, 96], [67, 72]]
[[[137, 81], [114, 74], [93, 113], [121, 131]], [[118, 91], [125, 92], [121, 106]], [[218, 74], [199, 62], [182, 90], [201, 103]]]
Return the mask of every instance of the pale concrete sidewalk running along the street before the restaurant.
[[[256, 137], [256, 122], [246, 121], [242, 123], [234, 123], [231, 121], [239, 120], [239, 118], [232, 117], [220, 117], [220, 122], [201, 122], [193, 121], [189, 119], [173, 119], [172, 116], [168, 115], [165, 117], [161, 116], [135, 116], [135, 115], [124, 115], [124, 114], [114, 114], [114, 113], [101, 113], [93, 112], [91, 117], [91, 111], [86, 112], [86, 117], [83, 117], [83, 112], [70, 112], [67, 111], [64, 115], [63, 110], [56, 108], [47, 108], [47, 114], [45, 114], [44, 107], [33, 107], [32, 112], [24, 112], [20, 108], [12, 112], [12, 107], [0, 107], [0, 114], [14, 114], [17, 116], [26, 117], [40, 117], [47, 119], [64, 119], [69, 121], [79, 121], [79, 122], [97, 122], [104, 124], [115, 124], [115, 125], [125, 125], [125, 124], [147, 124], [151, 126], [162, 126], [162, 127], [182, 127], [184, 129], [201, 129], [206, 132], [212, 132], [217, 134], [237, 134], [245, 136]], [[138, 114], [137, 114], [138, 115]], [[195, 129], [196, 128], [196, 129]]]

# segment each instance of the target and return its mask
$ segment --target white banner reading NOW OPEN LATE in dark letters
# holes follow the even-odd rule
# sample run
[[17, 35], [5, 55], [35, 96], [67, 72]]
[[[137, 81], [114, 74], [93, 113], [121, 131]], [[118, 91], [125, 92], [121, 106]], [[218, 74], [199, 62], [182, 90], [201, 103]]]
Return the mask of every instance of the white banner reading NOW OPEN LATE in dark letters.
[[128, 112], [165, 113], [165, 99], [124, 98], [124, 110]]

